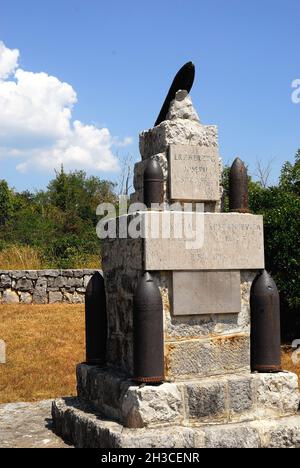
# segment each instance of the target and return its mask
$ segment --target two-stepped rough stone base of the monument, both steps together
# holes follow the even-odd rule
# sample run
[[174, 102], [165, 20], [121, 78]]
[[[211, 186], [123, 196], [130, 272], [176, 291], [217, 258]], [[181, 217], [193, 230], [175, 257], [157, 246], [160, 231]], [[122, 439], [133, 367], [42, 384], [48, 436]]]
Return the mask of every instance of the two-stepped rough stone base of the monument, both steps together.
[[290, 372], [139, 386], [80, 364], [77, 382], [78, 398], [53, 403], [53, 421], [78, 447], [300, 448], [298, 378]]

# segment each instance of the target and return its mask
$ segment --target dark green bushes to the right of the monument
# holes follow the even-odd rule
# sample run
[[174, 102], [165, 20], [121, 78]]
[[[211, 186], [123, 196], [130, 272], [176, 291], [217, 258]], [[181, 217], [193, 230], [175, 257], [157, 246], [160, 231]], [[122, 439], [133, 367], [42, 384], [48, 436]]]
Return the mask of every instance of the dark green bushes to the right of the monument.
[[[223, 171], [224, 211], [228, 211], [229, 171]], [[264, 188], [249, 177], [252, 213], [264, 216], [266, 269], [281, 298], [282, 335], [285, 341], [300, 336], [300, 150], [295, 162], [286, 162], [279, 184]]]

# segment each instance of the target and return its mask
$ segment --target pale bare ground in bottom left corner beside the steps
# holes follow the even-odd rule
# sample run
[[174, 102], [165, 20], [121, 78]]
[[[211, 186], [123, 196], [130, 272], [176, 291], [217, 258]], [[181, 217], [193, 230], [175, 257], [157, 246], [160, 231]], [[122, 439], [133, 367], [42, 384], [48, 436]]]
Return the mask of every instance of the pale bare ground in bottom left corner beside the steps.
[[51, 400], [0, 405], [0, 448], [69, 448], [51, 431]]

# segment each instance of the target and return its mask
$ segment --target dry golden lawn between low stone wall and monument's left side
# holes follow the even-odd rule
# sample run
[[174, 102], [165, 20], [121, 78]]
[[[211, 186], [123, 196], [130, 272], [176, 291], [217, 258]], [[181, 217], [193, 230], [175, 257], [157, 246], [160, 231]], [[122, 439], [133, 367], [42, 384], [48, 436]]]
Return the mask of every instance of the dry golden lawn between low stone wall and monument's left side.
[[0, 305], [0, 403], [75, 395], [75, 365], [84, 360], [84, 306]]

